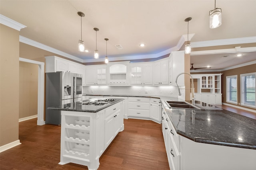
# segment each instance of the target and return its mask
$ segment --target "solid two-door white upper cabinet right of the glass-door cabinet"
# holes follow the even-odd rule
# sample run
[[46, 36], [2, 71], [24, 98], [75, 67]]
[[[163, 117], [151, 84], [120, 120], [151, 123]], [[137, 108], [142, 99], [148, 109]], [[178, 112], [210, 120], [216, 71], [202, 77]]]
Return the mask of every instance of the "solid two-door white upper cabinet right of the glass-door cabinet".
[[169, 84], [169, 63], [162, 60], [153, 64], [153, 83], [156, 85]]

